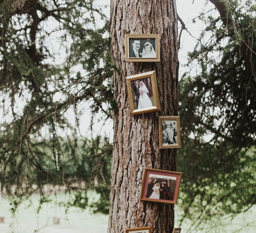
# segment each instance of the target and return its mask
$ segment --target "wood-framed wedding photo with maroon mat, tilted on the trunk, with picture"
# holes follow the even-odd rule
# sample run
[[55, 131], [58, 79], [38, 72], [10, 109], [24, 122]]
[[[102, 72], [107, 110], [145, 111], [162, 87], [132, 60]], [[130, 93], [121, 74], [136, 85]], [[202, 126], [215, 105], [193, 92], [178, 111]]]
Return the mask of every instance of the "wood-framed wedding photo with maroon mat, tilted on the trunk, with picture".
[[176, 204], [182, 172], [146, 168], [140, 200]]

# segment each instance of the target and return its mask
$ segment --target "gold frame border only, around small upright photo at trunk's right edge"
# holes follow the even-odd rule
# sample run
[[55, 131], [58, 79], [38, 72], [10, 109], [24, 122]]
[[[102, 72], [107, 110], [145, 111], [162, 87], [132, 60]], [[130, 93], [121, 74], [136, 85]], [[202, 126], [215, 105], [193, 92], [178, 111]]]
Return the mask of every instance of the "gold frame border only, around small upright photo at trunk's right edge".
[[[162, 120], [177, 120], [177, 144], [163, 145]], [[180, 116], [158, 116], [159, 148], [180, 148]]]

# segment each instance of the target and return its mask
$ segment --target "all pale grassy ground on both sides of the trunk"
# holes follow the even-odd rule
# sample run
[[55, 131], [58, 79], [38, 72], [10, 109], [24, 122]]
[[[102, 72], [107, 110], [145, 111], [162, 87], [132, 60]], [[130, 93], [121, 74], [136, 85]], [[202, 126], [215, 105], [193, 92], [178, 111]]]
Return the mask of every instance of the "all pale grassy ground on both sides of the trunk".
[[[64, 197], [59, 197], [62, 201]], [[91, 194], [90, 199], [97, 198]], [[6, 197], [2, 197], [0, 205], [0, 216], [5, 217], [5, 223], [0, 223], [0, 233], [106, 233], [108, 216], [102, 214], [92, 214], [89, 210], [80, 208], [69, 208], [65, 213], [65, 208], [53, 203], [44, 203], [39, 214], [36, 213], [38, 207], [39, 194], [32, 195], [33, 205], [29, 201], [23, 202], [18, 214], [12, 218], [9, 211], [9, 203]], [[60, 224], [53, 224], [53, 218], [59, 217]], [[179, 219], [178, 205], [175, 206], [175, 219]], [[177, 222], [177, 221], [176, 221]], [[256, 207], [246, 214], [240, 214], [235, 219], [222, 218], [222, 221], [211, 225], [204, 226], [204, 229], [191, 229], [190, 222], [187, 220], [182, 224], [182, 233], [216, 233], [216, 232], [256, 232]], [[223, 227], [220, 226], [224, 225]], [[248, 226], [249, 224], [249, 226]], [[160, 232], [157, 232], [160, 233]]]

